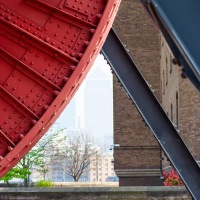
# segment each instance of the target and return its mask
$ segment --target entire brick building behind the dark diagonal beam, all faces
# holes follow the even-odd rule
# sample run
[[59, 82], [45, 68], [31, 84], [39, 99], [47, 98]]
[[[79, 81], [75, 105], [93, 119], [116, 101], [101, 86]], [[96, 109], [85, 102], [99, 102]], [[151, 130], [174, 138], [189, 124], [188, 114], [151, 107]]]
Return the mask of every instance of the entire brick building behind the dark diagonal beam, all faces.
[[[193, 155], [199, 159], [199, 94], [182, 78], [181, 68], [172, 64], [173, 56], [166, 42], [140, 1], [122, 0], [114, 29], [166, 113], [178, 125]], [[114, 149], [114, 167], [121, 186], [162, 185], [162, 169], [169, 163], [116, 78], [114, 143], [119, 144]]]

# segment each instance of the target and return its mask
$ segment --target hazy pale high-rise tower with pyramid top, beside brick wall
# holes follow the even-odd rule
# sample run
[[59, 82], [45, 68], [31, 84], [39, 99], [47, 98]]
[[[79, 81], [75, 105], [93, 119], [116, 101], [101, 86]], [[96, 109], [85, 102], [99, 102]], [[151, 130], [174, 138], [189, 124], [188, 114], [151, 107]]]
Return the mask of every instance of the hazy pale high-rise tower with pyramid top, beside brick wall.
[[85, 81], [85, 131], [108, 150], [113, 144], [112, 79], [100, 67]]

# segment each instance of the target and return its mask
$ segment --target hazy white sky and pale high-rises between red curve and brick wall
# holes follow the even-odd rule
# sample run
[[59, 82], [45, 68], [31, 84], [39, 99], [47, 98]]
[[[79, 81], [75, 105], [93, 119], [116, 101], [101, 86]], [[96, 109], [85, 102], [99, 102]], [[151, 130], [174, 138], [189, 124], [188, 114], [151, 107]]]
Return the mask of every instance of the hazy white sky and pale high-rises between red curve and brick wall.
[[72, 134], [89, 135], [103, 151], [113, 145], [113, 77], [99, 55], [82, 85], [53, 125]]

